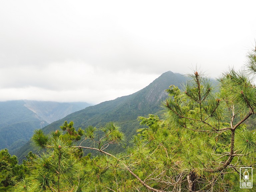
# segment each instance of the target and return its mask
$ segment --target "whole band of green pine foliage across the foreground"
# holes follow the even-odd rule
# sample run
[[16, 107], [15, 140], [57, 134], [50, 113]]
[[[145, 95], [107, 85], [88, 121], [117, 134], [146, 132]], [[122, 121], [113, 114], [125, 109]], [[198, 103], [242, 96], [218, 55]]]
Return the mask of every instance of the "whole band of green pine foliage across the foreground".
[[[15, 172], [15, 157], [1, 151], [2, 189], [241, 191], [239, 168], [254, 169], [256, 163], [255, 130], [245, 124], [256, 113], [256, 50], [247, 58], [245, 69], [223, 72], [218, 88], [198, 70], [181, 88], [171, 85], [160, 115], [138, 117], [146, 127], [132, 138], [126, 138], [114, 122], [76, 130], [72, 121], [65, 121], [62, 131], [49, 135], [36, 130], [32, 140], [41, 152], [28, 154], [20, 172]], [[106, 151], [111, 145], [123, 147], [125, 140], [132, 144], [125, 152]], [[83, 149], [98, 155], [84, 156]], [[255, 185], [251, 187], [243, 191], [255, 191]]]

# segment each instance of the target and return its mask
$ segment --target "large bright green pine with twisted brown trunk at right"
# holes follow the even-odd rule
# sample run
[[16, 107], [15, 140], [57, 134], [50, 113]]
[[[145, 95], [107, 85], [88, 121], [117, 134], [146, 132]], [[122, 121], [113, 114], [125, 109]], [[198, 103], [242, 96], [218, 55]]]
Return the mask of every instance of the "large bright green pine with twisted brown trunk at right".
[[148, 129], [132, 138], [128, 164], [155, 189], [236, 191], [239, 167], [255, 165], [255, 131], [243, 124], [255, 111], [255, 87], [234, 70], [221, 78], [220, 92], [200, 72], [190, 77], [183, 91], [167, 90], [163, 119], [138, 118]]

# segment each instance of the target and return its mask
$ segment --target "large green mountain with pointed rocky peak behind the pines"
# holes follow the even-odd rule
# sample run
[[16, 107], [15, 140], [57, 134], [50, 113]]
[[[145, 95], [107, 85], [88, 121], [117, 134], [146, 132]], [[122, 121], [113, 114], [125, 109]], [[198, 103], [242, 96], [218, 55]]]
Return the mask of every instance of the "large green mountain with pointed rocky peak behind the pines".
[[[107, 122], [115, 121], [121, 125], [122, 131], [129, 140], [136, 133], [136, 129], [139, 128], [137, 117], [156, 113], [159, 110], [161, 101], [167, 97], [165, 90], [172, 84], [180, 87], [180, 83], [185, 81], [186, 77], [181, 74], [171, 71], [165, 72], [147, 87], [136, 93], [89, 106], [47, 125], [42, 130], [45, 133], [49, 133], [59, 129], [65, 120], [74, 121], [75, 127], [82, 128], [88, 125], [98, 127]], [[22, 158], [31, 150], [32, 147], [27, 143], [16, 151], [16, 155]], [[118, 150], [115, 149], [115, 151]]]

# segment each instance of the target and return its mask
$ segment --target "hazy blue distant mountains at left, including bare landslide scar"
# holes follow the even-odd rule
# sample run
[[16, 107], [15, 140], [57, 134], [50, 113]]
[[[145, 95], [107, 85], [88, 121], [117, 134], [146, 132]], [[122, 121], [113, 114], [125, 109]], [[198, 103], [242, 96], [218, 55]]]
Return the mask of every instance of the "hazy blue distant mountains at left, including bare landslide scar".
[[12, 152], [31, 138], [33, 130], [89, 105], [27, 100], [0, 102], [0, 149], [8, 148]]

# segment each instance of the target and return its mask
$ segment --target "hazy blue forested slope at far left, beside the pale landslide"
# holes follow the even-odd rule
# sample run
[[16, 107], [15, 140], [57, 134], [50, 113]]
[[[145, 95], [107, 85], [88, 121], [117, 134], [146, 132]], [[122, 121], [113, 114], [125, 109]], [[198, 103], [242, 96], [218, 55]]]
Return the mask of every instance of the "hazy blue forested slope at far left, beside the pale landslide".
[[24, 144], [33, 130], [49, 124], [24, 105], [24, 101], [0, 102], [0, 149]]

